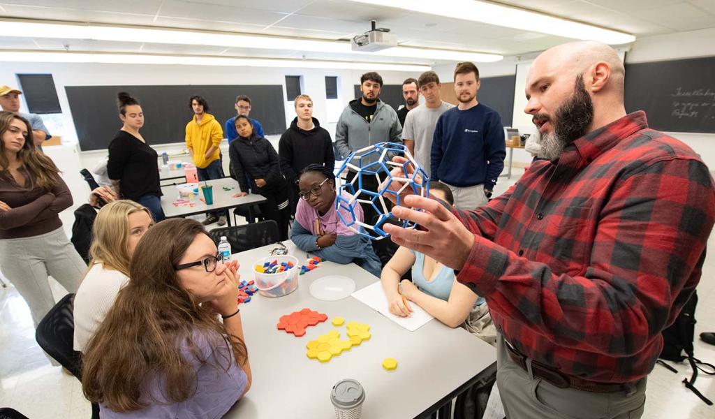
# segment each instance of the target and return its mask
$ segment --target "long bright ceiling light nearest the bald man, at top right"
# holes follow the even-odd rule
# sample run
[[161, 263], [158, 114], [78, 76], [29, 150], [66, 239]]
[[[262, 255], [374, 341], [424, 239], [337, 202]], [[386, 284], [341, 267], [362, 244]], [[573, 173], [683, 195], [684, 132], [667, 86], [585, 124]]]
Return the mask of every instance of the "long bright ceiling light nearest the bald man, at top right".
[[412, 12], [445, 16], [452, 19], [477, 21], [513, 29], [541, 32], [571, 39], [601, 41], [604, 44], [628, 44], [636, 36], [581, 24], [535, 11], [515, 9], [500, 4], [476, 0], [350, 0], [375, 6], [404, 9]]

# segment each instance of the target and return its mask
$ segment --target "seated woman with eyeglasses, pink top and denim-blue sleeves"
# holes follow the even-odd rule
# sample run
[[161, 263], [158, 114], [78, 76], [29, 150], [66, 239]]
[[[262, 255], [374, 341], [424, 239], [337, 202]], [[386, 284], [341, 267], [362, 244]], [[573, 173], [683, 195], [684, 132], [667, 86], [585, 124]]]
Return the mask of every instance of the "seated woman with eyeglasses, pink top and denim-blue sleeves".
[[[300, 250], [313, 252], [322, 259], [356, 265], [380, 277], [380, 259], [375, 255], [370, 239], [356, 234], [340, 220], [352, 217], [346, 209], [335, 209], [335, 175], [322, 164], [310, 164], [298, 178], [298, 202], [295, 221], [290, 230], [292, 240]], [[345, 199], [352, 195], [343, 191]], [[355, 205], [355, 217], [363, 221], [363, 209]]]

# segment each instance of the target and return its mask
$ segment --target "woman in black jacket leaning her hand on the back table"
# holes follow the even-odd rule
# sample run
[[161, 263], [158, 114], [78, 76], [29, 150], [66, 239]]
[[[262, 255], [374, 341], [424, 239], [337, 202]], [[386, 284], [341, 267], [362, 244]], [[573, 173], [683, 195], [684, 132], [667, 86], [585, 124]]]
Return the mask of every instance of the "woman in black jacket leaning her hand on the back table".
[[234, 196], [245, 196], [250, 190], [265, 197], [266, 202], [258, 204], [263, 217], [275, 220], [281, 240], [287, 240], [290, 222], [288, 183], [280, 173], [278, 154], [267, 139], [254, 134], [248, 117], [239, 115], [235, 124], [238, 138], [231, 142], [228, 153], [241, 192]]

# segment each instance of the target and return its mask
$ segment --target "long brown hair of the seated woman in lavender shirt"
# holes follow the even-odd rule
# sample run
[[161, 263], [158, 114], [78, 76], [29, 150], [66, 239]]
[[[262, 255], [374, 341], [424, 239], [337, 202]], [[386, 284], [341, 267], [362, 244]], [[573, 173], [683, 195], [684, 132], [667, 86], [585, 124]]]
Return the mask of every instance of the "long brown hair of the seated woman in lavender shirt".
[[[159, 222], [139, 240], [129, 284], [119, 291], [83, 357], [82, 389], [87, 399], [115, 412], [139, 410], [146, 407], [146, 380], [157, 379], [167, 401], [187, 400], [197, 390], [197, 376], [181, 347], [185, 344], [198, 355], [196, 332], [219, 337], [209, 337], [209, 342], [224, 342], [240, 365], [246, 363], [245, 343], [237, 336], [221, 337], [228, 333], [218, 316], [199, 305], [174, 270], [202, 234], [206, 230], [199, 222], [172, 219]], [[218, 355], [218, 347], [212, 350]], [[221, 368], [230, 368], [229, 357], [215, 358], [226, 361], [218, 362]]]

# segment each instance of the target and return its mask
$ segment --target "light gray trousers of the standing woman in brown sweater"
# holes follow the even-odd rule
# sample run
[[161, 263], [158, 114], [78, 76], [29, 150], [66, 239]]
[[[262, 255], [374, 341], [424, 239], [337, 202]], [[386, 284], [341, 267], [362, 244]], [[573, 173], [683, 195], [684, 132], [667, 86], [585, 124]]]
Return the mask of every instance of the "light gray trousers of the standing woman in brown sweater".
[[29, 305], [37, 327], [55, 304], [48, 276], [77, 292], [87, 264], [59, 227], [44, 235], [0, 240], [0, 270]]

